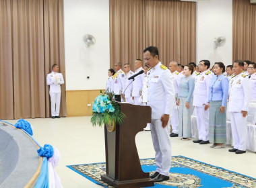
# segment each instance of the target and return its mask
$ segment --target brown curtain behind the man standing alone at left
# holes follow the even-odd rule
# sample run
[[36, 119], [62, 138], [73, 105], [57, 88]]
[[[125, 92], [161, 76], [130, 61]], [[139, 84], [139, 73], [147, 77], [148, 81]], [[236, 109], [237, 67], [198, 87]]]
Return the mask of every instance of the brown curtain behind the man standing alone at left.
[[[65, 77], [63, 0], [0, 0], [0, 7], [6, 12], [0, 13], [5, 38], [1, 46], [8, 47], [0, 50], [0, 70], [9, 70], [11, 78], [0, 81], [0, 99], [8, 99], [0, 110], [9, 109], [7, 114], [1, 111], [0, 118], [49, 118], [46, 75], [51, 65], [59, 64]], [[7, 87], [2, 86], [5, 83]], [[65, 85], [62, 89], [61, 115], [65, 116]]]

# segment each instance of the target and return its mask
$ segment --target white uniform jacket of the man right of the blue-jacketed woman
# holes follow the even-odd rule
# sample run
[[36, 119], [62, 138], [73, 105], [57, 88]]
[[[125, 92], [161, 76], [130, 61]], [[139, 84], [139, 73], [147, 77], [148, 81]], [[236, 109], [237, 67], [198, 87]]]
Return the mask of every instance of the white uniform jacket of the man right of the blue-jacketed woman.
[[229, 82], [229, 110], [230, 112], [248, 111], [251, 99], [251, 87], [248, 76], [243, 73], [236, 75]]

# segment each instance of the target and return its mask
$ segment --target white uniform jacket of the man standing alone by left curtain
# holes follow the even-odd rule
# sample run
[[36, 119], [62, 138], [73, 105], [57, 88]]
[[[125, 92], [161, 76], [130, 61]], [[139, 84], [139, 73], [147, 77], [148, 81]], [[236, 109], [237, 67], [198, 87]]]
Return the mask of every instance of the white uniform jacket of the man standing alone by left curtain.
[[61, 73], [51, 72], [46, 77], [47, 85], [50, 85], [49, 93], [61, 93], [61, 84], [64, 79]]

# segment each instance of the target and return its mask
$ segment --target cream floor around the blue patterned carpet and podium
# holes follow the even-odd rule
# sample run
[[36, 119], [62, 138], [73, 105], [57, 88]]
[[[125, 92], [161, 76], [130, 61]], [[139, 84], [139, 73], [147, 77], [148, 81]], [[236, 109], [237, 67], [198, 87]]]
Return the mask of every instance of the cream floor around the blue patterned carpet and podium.
[[[18, 120], [7, 120], [15, 124]], [[104, 162], [104, 129], [93, 127], [90, 117], [61, 119], [29, 119], [33, 127], [34, 138], [41, 144], [51, 144], [61, 152], [61, 160], [57, 167], [63, 187], [93, 188], [101, 187], [71, 171], [66, 165]], [[183, 155], [201, 162], [210, 163], [230, 171], [242, 173], [256, 178], [256, 154], [234, 154], [228, 147], [210, 148], [210, 144], [193, 144], [191, 140], [170, 138], [172, 155]], [[139, 132], [136, 136], [139, 158], [153, 158], [154, 148], [150, 132]]]

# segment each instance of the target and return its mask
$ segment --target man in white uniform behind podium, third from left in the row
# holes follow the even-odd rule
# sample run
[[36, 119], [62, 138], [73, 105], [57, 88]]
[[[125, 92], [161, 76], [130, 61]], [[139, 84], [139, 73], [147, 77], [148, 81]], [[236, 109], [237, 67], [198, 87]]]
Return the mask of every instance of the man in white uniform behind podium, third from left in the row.
[[131, 92], [133, 91], [133, 83], [132, 83], [133, 80], [128, 80], [128, 79], [134, 73], [133, 71], [131, 71], [131, 67], [129, 63], [125, 64], [124, 71], [125, 71], [125, 91], [123, 91], [124, 99], [125, 99], [125, 102], [131, 103]]

